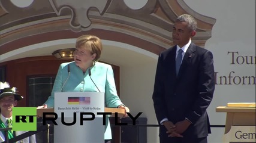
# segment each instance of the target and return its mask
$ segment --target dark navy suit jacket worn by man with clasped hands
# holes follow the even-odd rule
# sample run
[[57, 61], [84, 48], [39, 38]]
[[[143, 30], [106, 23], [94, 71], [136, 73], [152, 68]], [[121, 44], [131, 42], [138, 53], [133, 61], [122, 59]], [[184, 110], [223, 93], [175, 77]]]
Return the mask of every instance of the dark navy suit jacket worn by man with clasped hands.
[[[159, 54], [153, 91], [156, 118], [165, 117], [174, 124], [189, 119], [192, 125], [182, 134], [184, 138], [202, 138], [210, 132], [206, 108], [215, 89], [213, 55], [207, 49], [191, 43], [176, 76], [176, 46]], [[159, 136], [167, 136], [160, 125]]]

